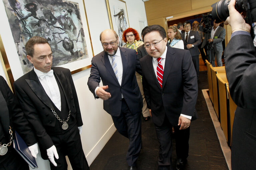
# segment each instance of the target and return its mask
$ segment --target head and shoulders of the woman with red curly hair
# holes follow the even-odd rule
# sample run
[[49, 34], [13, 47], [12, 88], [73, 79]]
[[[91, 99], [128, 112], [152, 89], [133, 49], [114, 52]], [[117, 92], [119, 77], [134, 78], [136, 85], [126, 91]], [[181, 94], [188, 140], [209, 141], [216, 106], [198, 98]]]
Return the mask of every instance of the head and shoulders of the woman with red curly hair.
[[127, 28], [124, 32], [123, 32], [123, 37], [122, 40], [124, 43], [123, 47], [124, 48], [130, 48], [130, 49], [134, 49], [137, 51], [137, 48], [140, 47], [141, 45], [143, 45], [144, 43], [140, 40], [140, 35], [139, 33], [133, 29], [133, 28]]

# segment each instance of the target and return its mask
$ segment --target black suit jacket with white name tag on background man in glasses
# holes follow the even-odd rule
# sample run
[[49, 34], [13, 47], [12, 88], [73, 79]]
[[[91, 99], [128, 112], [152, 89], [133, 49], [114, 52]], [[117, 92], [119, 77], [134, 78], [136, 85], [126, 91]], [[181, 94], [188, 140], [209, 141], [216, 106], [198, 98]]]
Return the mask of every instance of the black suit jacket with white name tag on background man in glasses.
[[[199, 55], [200, 52], [199, 52], [198, 46], [201, 44], [202, 41], [201, 41], [198, 31], [193, 31], [193, 30], [190, 31], [187, 43], [185, 41], [185, 34], [186, 34], [186, 32], [181, 34], [181, 38], [184, 42], [184, 49], [189, 50], [191, 56]], [[194, 47], [187, 49], [187, 44], [193, 44]]]

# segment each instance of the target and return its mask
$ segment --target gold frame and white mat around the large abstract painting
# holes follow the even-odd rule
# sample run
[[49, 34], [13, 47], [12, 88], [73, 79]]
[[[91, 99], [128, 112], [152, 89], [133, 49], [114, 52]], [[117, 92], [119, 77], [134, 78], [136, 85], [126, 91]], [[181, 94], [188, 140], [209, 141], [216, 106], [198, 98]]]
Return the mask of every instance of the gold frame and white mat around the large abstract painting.
[[[25, 3], [25, 0], [20, 0], [19, 3], [22, 1], [24, 1], [24, 3]], [[36, 4], [39, 1], [40, 0], [35, 0], [35, 1], [33, 1], [33, 3]], [[59, 2], [57, 0], [53, 0], [53, 1]], [[83, 39], [84, 43], [86, 44], [86, 46], [83, 46], [83, 48], [87, 49], [86, 53], [84, 53], [87, 55], [87, 57], [85, 59], [77, 60], [75, 62], [71, 61], [70, 63], [64, 64], [64, 65], [58, 65], [60, 67], [65, 67], [65, 68], [70, 69], [71, 74], [75, 74], [75, 73], [78, 73], [80, 71], [86, 70], [91, 67], [91, 58], [94, 56], [91, 35], [90, 35], [84, 0], [63, 0], [62, 2], [77, 4], [78, 10], [73, 11], [73, 13], [76, 12], [76, 14], [77, 14], [79, 12], [78, 14], [80, 16], [81, 29], [75, 30], [75, 31], [77, 31], [77, 32], [79, 31], [79, 33], [80, 33], [79, 38]], [[23, 73], [22, 68], [19, 67], [19, 65], [21, 65], [21, 64], [19, 64], [20, 56], [17, 53], [17, 51], [19, 51], [19, 50], [17, 50], [17, 51], [14, 50], [17, 47], [17, 45], [16, 45], [17, 43], [14, 41], [14, 37], [13, 37], [14, 33], [10, 29], [11, 26], [9, 27], [9, 24], [11, 24], [9, 22], [11, 20], [8, 18], [8, 15], [10, 15], [11, 12], [6, 11], [5, 7], [6, 6], [5, 6], [4, 2], [1, 1], [0, 2], [0, 11], [1, 11], [0, 15], [3, 16], [3, 18], [4, 18], [1, 22], [3, 25], [6, 25], [6, 27], [0, 28], [0, 53], [1, 53], [0, 58], [1, 58], [1, 63], [2, 63], [3, 69], [4, 69], [6, 79], [9, 80], [9, 82], [7, 81], [7, 83], [9, 83], [10, 85], [13, 85], [14, 80], [17, 80], [19, 77], [21, 77], [25, 73]], [[63, 11], [64, 11], [64, 9], [63, 9]], [[70, 13], [70, 16], [71, 16], [71, 12], [67, 10], [66, 13], [67, 13], [67, 15], [69, 15], [69, 13]], [[73, 15], [73, 13], [72, 13], [72, 15]], [[23, 16], [23, 17], [25, 18], [26, 16]], [[40, 19], [38, 19], [38, 20], [40, 20]], [[45, 21], [46, 21], [46, 19], [45, 19]], [[20, 23], [18, 23], [18, 24], [20, 24]], [[74, 24], [76, 24], [76, 23], [74, 23]], [[60, 26], [58, 25], [58, 28], [59, 27]], [[62, 28], [62, 30], [64, 30], [64, 29]], [[20, 53], [23, 53], [23, 51]], [[17, 62], [17, 60], [18, 60], [18, 62]]]

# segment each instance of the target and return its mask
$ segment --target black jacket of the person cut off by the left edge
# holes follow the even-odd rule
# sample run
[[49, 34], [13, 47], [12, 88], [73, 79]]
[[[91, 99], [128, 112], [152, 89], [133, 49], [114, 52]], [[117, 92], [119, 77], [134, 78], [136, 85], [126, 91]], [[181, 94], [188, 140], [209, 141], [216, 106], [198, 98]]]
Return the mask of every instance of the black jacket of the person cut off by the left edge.
[[[14, 94], [2, 76], [0, 76], [0, 91], [6, 102], [0, 103], [0, 106], [3, 107], [4, 105], [7, 105], [9, 111], [0, 112], [0, 142], [2, 142], [2, 144], [7, 144], [10, 142], [9, 130], [7, 129], [6, 131], [3, 128], [3, 124], [5, 124], [7, 127], [12, 127], [13, 136], [16, 130], [28, 146], [35, 144], [37, 142], [35, 134], [32, 131], [27, 119], [24, 117], [24, 113], [20, 108], [19, 102], [16, 100]], [[12, 145], [10, 147], [12, 147]], [[7, 152], [6, 155], [1, 156], [0, 163], [4, 160], [5, 157], [7, 157], [8, 153], [9, 152]]]

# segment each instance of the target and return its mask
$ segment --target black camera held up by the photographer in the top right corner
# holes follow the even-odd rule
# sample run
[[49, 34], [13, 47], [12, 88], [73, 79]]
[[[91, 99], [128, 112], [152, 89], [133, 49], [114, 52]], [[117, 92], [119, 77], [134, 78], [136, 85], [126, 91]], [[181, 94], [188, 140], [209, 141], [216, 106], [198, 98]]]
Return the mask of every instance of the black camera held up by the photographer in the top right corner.
[[[229, 17], [229, 2], [230, 0], [220, 0], [211, 6], [215, 23], [225, 21]], [[235, 9], [239, 13], [246, 12], [246, 23], [251, 25], [256, 22], [256, 0], [236, 0]]]

